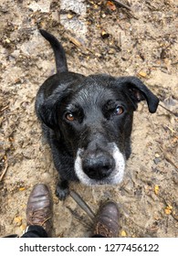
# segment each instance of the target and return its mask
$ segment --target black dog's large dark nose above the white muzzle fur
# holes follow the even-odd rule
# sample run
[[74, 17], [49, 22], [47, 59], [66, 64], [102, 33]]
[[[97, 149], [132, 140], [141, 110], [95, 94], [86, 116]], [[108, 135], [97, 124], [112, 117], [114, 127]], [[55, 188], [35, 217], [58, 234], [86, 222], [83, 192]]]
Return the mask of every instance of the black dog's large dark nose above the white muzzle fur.
[[101, 180], [110, 176], [114, 168], [114, 159], [111, 155], [88, 155], [83, 160], [83, 171], [89, 178]]

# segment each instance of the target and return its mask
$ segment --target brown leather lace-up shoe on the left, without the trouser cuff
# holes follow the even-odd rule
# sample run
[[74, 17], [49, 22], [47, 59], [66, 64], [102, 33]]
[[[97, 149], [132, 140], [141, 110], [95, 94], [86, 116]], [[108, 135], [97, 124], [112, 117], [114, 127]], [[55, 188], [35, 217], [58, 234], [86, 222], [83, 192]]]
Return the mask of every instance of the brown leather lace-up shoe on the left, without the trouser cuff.
[[26, 205], [27, 226], [42, 226], [50, 237], [52, 232], [52, 208], [52, 198], [48, 187], [44, 184], [35, 185]]

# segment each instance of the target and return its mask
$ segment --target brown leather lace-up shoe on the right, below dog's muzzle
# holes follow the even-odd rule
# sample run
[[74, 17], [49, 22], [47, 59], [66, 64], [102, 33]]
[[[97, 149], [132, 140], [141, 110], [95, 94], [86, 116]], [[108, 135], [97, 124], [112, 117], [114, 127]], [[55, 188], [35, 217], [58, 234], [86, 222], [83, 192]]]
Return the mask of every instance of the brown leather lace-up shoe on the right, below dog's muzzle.
[[95, 220], [94, 235], [117, 238], [119, 233], [119, 209], [113, 201], [108, 201], [99, 209]]

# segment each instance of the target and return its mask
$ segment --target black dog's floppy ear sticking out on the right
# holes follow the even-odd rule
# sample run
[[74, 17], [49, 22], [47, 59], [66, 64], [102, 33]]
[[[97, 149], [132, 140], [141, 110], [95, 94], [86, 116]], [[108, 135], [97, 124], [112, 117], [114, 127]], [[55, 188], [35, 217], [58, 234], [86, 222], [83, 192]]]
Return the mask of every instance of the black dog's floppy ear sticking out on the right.
[[117, 80], [120, 87], [130, 96], [131, 101], [137, 105], [140, 101], [147, 101], [150, 112], [156, 112], [159, 99], [150, 91], [144, 83], [136, 77], [122, 77]]

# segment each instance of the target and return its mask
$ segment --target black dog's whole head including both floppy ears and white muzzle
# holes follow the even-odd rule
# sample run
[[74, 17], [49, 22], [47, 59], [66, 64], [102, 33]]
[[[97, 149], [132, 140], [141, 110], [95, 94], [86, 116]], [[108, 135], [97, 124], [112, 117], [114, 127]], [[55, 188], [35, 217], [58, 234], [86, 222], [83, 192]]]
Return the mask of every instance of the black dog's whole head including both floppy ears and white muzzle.
[[58, 133], [58, 140], [74, 158], [74, 171], [82, 183], [118, 184], [131, 154], [137, 103], [146, 100], [150, 112], [155, 112], [158, 99], [137, 78], [85, 78], [69, 72], [67, 76], [68, 82], [48, 89], [41, 119]]

